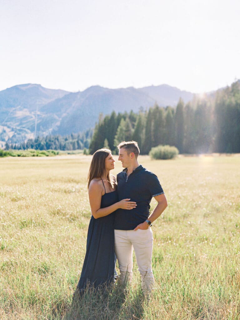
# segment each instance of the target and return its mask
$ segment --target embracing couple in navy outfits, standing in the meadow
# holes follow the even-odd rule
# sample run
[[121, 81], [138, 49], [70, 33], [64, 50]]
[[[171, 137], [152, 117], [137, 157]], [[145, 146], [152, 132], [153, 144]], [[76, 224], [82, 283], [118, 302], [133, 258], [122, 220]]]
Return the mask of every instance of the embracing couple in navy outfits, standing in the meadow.
[[[115, 162], [109, 149], [97, 150], [90, 164], [88, 193], [92, 217], [82, 273], [75, 292], [80, 296], [89, 285], [96, 288], [114, 282], [116, 258], [120, 283], [131, 282], [133, 249], [144, 295], [154, 287], [150, 227], [167, 207], [167, 200], [157, 176], [139, 165], [137, 142], [121, 142], [118, 149], [118, 160], [124, 170], [117, 174], [117, 179], [109, 173]], [[152, 197], [157, 205], [149, 216]]]

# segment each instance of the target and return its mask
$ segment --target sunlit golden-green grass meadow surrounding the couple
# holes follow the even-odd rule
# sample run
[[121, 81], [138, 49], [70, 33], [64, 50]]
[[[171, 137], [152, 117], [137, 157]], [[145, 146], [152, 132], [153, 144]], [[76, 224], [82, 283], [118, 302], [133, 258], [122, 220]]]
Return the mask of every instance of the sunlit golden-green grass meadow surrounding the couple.
[[[240, 319], [240, 156], [140, 163], [168, 208], [153, 224], [156, 289], [89, 292], [71, 307], [91, 216], [91, 156], [0, 159], [0, 319]], [[114, 174], [122, 170], [116, 158]], [[153, 199], [151, 209], [155, 206]]]

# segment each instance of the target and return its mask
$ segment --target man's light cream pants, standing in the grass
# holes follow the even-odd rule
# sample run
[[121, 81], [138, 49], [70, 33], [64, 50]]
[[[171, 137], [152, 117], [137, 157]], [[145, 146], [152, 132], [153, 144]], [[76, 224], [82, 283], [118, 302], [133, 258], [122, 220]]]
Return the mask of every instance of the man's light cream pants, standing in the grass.
[[151, 228], [147, 230], [114, 230], [115, 253], [120, 269], [120, 282], [127, 279], [132, 281], [132, 253], [135, 251], [138, 269], [142, 279], [142, 290], [146, 295], [154, 287], [152, 271], [153, 234]]

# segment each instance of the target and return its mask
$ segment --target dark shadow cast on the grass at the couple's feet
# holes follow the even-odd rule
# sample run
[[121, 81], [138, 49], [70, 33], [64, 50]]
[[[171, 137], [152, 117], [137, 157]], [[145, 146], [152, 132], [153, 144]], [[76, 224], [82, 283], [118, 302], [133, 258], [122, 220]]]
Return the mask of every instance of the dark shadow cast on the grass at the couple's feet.
[[143, 295], [114, 285], [113, 288], [87, 288], [76, 298], [62, 320], [140, 320]]

